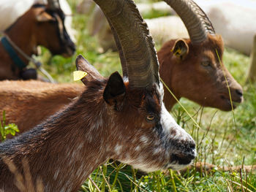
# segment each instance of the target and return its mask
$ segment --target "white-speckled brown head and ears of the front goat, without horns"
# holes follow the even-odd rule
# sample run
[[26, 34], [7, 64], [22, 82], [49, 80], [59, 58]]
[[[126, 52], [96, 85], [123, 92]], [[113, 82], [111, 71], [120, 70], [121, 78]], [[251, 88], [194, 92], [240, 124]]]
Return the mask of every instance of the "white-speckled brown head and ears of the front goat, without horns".
[[[108, 115], [103, 118], [106, 128], [100, 134], [108, 135], [108, 138], [101, 138], [99, 142], [105, 142], [109, 158], [145, 172], [182, 169], [191, 163], [196, 155], [195, 142], [165, 109], [161, 83], [154, 82], [151, 88], [138, 88], [123, 80], [118, 72], [105, 79], [97, 71], [92, 72], [82, 56], [78, 56], [77, 66], [79, 70], [89, 72], [82, 79], [86, 91], [81, 99], [85, 98], [87, 105], [94, 102], [91, 114], [97, 114], [101, 105], [96, 104], [100, 103], [99, 98], [90, 97], [94, 101], [87, 101], [86, 96], [102, 95]], [[89, 92], [91, 88], [99, 92]], [[104, 115], [98, 115], [95, 123], [97, 127], [103, 126]], [[97, 134], [93, 134], [94, 139]]]

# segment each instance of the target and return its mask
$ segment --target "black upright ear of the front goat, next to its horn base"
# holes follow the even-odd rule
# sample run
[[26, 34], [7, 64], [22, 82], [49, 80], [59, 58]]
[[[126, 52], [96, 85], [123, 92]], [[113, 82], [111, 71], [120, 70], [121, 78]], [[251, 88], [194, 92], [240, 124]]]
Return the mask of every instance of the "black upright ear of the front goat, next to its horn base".
[[115, 104], [116, 110], [121, 110], [121, 101], [124, 99], [125, 93], [124, 80], [118, 72], [114, 72], [108, 79], [103, 98], [108, 104]]

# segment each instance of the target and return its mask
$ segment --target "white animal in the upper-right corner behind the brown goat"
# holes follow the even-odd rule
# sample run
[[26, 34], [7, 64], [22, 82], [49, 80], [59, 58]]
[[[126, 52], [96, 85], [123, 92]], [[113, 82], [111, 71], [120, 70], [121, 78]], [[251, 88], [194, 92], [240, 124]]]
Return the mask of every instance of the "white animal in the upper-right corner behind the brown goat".
[[206, 12], [225, 45], [246, 55], [252, 50], [256, 34], [256, 1], [195, 0]]

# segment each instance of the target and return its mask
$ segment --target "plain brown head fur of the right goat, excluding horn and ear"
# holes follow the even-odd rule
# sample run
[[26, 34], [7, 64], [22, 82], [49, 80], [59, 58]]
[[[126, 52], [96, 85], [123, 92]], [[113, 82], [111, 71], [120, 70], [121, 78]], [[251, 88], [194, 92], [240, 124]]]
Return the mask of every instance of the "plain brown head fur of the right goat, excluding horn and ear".
[[[173, 46], [176, 40], [170, 40], [158, 52], [159, 74], [177, 99], [185, 97], [206, 107], [216, 107], [220, 110], [229, 111], [232, 109], [229, 102], [229, 93], [220, 61], [224, 52], [222, 37], [208, 35], [208, 39], [200, 45], [193, 45], [189, 39], [187, 43], [188, 53], [183, 58], [174, 55]], [[204, 60], [211, 61], [210, 67], [202, 66]], [[243, 101], [241, 85], [234, 80], [230, 72], [223, 65], [223, 70], [230, 87], [231, 98], [240, 103]], [[176, 100], [165, 88], [165, 106], [170, 110]], [[236, 104], [233, 104], [236, 108]]]

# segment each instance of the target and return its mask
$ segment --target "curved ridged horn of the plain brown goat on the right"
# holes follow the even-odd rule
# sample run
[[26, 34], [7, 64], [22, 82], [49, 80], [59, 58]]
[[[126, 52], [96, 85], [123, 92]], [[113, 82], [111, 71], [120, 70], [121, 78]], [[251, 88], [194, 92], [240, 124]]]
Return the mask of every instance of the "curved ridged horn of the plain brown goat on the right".
[[164, 0], [172, 7], [185, 24], [192, 43], [203, 42], [207, 34], [215, 34], [211, 21], [192, 0]]

